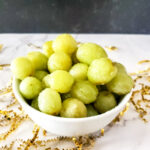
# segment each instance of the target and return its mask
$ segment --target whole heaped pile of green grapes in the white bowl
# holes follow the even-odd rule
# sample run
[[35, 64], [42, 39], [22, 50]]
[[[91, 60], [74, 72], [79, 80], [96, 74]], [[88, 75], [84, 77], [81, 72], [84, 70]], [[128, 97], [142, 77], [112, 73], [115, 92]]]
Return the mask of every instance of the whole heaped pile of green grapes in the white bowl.
[[94, 43], [77, 44], [69, 34], [11, 63], [27, 102], [46, 114], [66, 118], [98, 115], [114, 108], [129, 93], [133, 80]]

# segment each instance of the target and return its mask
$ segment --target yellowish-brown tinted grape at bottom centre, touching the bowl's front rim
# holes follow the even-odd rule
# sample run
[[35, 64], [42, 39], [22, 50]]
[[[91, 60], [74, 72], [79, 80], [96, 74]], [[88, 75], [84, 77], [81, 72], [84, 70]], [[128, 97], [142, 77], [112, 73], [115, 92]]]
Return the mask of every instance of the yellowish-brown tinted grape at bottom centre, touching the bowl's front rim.
[[87, 116], [85, 105], [75, 98], [68, 98], [63, 101], [61, 117], [65, 118], [83, 118]]

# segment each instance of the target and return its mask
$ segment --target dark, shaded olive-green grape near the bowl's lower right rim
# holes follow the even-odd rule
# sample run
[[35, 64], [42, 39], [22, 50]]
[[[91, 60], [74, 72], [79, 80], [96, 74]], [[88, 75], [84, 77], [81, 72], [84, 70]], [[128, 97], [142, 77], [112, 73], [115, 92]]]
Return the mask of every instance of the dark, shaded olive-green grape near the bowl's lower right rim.
[[104, 113], [117, 106], [117, 102], [112, 93], [108, 91], [102, 91], [99, 93], [97, 100], [94, 103], [94, 107], [99, 113]]

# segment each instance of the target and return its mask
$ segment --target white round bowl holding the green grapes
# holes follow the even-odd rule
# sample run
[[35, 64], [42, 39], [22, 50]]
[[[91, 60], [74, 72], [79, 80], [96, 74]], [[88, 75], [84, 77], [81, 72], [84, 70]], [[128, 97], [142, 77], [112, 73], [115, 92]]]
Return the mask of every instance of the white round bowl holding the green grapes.
[[61, 118], [51, 116], [32, 108], [19, 92], [19, 80], [13, 80], [13, 92], [30, 118], [45, 130], [61, 136], [79, 136], [96, 132], [108, 125], [125, 107], [131, 93], [112, 110], [86, 118]]

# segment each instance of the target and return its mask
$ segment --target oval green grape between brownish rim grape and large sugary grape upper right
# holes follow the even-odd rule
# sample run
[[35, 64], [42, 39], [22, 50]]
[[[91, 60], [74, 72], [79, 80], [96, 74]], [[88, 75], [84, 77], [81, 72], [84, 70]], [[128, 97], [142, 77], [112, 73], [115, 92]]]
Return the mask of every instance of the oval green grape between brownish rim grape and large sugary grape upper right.
[[96, 100], [98, 89], [89, 81], [78, 81], [72, 87], [71, 95], [84, 104], [89, 104]]

